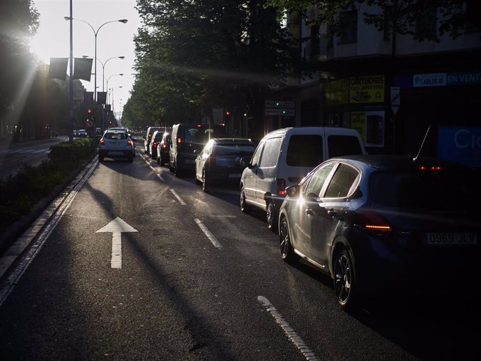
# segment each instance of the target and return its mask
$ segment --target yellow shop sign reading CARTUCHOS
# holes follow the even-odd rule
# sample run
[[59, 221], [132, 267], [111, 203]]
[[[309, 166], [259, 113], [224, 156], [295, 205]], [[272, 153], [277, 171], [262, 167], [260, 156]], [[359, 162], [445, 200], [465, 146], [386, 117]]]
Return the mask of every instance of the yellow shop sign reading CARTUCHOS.
[[349, 78], [349, 102], [384, 102], [384, 75]]

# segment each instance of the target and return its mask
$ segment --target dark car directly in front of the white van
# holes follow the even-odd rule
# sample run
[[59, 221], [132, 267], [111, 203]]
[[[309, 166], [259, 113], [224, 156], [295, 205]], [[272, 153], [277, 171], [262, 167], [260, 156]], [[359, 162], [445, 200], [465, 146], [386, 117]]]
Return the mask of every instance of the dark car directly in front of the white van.
[[214, 138], [207, 142], [195, 158], [196, 183], [208, 192], [217, 185], [239, 184], [243, 168], [241, 160], [250, 159], [255, 151], [250, 139]]

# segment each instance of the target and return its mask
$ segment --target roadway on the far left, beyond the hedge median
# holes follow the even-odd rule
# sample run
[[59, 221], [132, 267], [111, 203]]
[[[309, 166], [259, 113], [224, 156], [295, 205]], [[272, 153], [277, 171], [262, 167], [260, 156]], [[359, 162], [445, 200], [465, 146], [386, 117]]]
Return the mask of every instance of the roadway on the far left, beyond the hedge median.
[[0, 144], [0, 178], [16, 174], [22, 164], [37, 166], [47, 160], [50, 146], [67, 140], [68, 137], [56, 137], [26, 143]]

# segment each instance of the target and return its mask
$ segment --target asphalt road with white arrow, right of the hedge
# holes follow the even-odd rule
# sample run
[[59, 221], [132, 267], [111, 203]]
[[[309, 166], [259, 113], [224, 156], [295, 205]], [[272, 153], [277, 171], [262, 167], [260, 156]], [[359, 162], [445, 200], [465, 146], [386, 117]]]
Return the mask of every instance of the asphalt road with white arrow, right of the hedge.
[[343, 312], [328, 277], [280, 259], [264, 215], [241, 213], [236, 190], [204, 193], [142, 153], [92, 169], [15, 268], [0, 306], [2, 360], [480, 355], [479, 316], [462, 301]]

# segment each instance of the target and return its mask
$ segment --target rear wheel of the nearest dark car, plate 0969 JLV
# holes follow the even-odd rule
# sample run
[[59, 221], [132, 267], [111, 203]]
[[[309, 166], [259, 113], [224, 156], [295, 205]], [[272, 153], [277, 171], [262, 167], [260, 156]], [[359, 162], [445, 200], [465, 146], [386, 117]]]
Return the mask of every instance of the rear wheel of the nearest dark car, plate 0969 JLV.
[[333, 257], [334, 291], [342, 309], [351, 309], [355, 299], [354, 265], [347, 249], [339, 249]]

